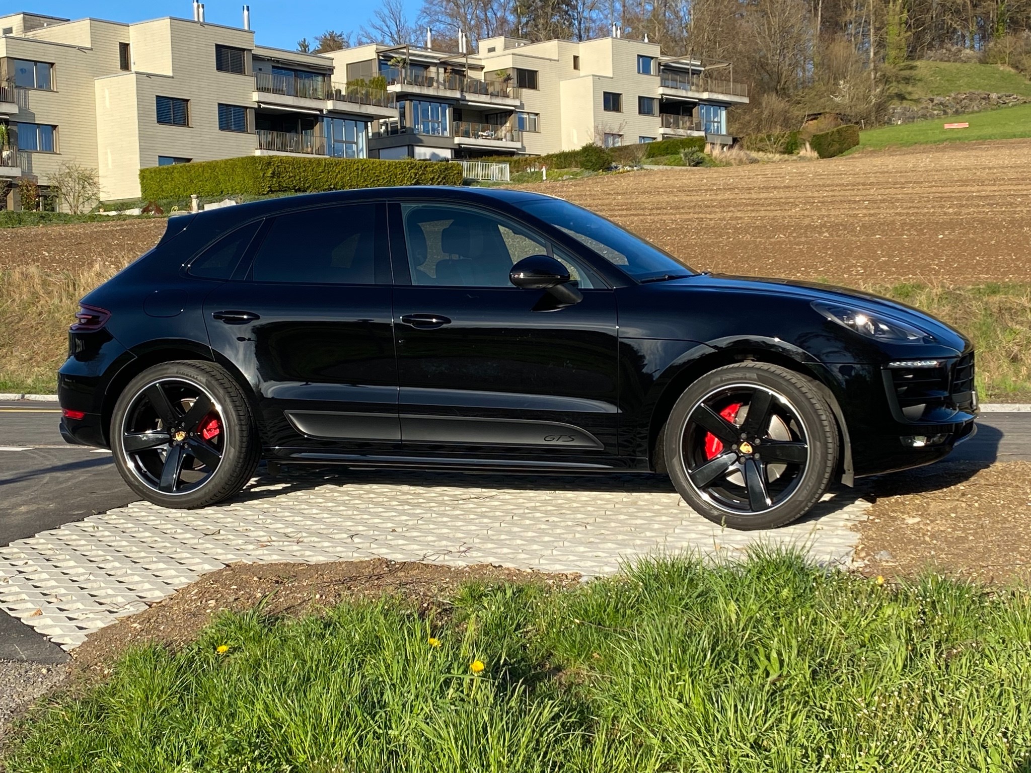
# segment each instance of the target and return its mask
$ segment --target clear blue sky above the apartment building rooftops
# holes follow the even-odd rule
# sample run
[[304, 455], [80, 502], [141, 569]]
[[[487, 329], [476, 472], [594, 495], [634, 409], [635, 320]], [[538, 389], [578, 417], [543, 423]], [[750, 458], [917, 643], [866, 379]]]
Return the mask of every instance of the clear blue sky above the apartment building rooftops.
[[[20, 0], [12, 10], [46, 13], [65, 19], [95, 16], [113, 22], [142, 22], [159, 16], [179, 16], [190, 19], [192, 0]], [[273, 0], [251, 0], [251, 27], [255, 39], [261, 45], [279, 48], [294, 48], [302, 37], [311, 40], [327, 29], [354, 31], [366, 24], [374, 2], [367, 0], [300, 0], [299, 2], [274, 2]], [[412, 18], [419, 10], [419, 0], [405, 0]], [[243, 0], [207, 0], [204, 3], [206, 21], [233, 27], [242, 26]], [[0, 11], [2, 12], [2, 11]]]

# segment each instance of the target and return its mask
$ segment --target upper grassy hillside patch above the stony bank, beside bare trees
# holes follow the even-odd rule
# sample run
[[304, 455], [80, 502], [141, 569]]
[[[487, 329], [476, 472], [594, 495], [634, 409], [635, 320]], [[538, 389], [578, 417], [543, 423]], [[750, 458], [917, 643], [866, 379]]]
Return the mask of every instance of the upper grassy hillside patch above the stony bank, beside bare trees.
[[1031, 80], [999, 65], [961, 62], [911, 62], [900, 69], [895, 90], [899, 101], [947, 97], [957, 92], [995, 92], [1031, 97]]

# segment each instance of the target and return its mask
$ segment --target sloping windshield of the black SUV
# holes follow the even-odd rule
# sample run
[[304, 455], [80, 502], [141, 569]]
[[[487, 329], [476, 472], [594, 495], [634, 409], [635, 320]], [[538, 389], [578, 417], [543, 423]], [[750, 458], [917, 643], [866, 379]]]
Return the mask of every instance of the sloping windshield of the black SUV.
[[694, 273], [654, 244], [568, 201], [534, 201], [524, 204], [523, 209], [562, 229], [637, 281], [655, 281]]

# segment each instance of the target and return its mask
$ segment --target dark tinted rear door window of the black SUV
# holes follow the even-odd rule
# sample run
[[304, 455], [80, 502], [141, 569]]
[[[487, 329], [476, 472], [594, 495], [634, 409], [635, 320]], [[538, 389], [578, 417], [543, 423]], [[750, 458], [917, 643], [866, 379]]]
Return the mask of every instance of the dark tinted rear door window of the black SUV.
[[255, 281], [374, 284], [377, 204], [280, 214], [255, 256]]

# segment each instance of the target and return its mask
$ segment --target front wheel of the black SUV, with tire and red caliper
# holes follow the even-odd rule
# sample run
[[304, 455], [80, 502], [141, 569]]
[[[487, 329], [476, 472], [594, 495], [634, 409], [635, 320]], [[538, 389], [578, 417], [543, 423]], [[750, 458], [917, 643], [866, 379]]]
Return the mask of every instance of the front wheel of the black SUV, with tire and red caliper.
[[731, 529], [773, 529], [801, 517], [837, 466], [837, 425], [814, 382], [766, 363], [728, 365], [699, 378], [673, 405], [660, 438], [684, 500]]

